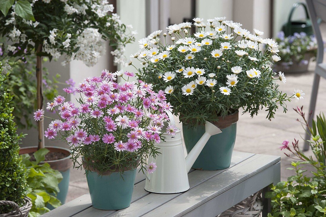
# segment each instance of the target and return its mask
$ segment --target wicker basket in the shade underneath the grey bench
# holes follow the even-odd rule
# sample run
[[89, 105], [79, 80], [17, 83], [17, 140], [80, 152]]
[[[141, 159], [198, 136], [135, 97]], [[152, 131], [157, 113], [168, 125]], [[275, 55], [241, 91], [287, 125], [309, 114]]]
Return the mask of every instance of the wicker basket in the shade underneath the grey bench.
[[263, 210], [261, 190], [244, 199], [230, 209], [219, 214], [219, 217], [258, 217]]

